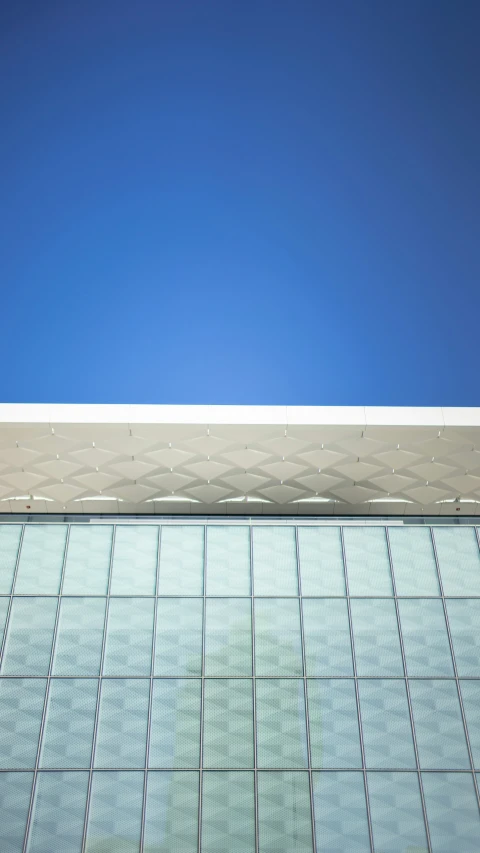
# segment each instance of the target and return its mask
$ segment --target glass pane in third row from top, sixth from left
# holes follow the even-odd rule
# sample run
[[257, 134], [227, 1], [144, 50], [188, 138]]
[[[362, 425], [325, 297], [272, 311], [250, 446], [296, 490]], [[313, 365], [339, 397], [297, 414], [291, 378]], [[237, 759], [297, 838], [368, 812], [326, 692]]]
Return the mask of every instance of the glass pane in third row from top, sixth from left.
[[308, 767], [303, 679], [256, 681], [259, 767]]

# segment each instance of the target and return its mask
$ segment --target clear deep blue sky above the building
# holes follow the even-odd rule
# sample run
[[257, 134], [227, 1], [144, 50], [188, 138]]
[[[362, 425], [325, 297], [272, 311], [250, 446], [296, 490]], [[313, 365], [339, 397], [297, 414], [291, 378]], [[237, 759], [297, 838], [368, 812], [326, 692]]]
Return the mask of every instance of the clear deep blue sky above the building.
[[1, 0], [0, 400], [479, 405], [478, 0]]

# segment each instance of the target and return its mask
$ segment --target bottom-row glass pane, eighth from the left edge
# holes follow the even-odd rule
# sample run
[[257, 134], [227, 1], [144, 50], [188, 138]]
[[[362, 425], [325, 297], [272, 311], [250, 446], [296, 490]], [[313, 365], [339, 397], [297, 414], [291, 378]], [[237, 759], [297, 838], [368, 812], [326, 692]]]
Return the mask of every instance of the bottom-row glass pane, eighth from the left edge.
[[416, 773], [369, 773], [368, 797], [375, 850], [427, 853]]

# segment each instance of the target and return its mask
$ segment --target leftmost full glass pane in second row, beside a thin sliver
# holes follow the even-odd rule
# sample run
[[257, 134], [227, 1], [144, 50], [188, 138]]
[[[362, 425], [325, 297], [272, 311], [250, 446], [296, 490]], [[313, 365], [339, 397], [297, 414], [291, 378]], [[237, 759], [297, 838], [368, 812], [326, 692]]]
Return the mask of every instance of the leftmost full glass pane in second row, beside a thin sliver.
[[14, 598], [2, 675], [48, 675], [56, 598]]

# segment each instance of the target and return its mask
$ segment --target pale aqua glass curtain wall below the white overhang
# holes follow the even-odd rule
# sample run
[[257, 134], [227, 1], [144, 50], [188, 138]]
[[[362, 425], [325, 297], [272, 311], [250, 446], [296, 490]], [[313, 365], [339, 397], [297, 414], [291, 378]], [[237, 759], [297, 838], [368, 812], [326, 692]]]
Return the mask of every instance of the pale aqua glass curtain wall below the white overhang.
[[1, 853], [480, 850], [474, 518], [4, 515], [0, 638]]

